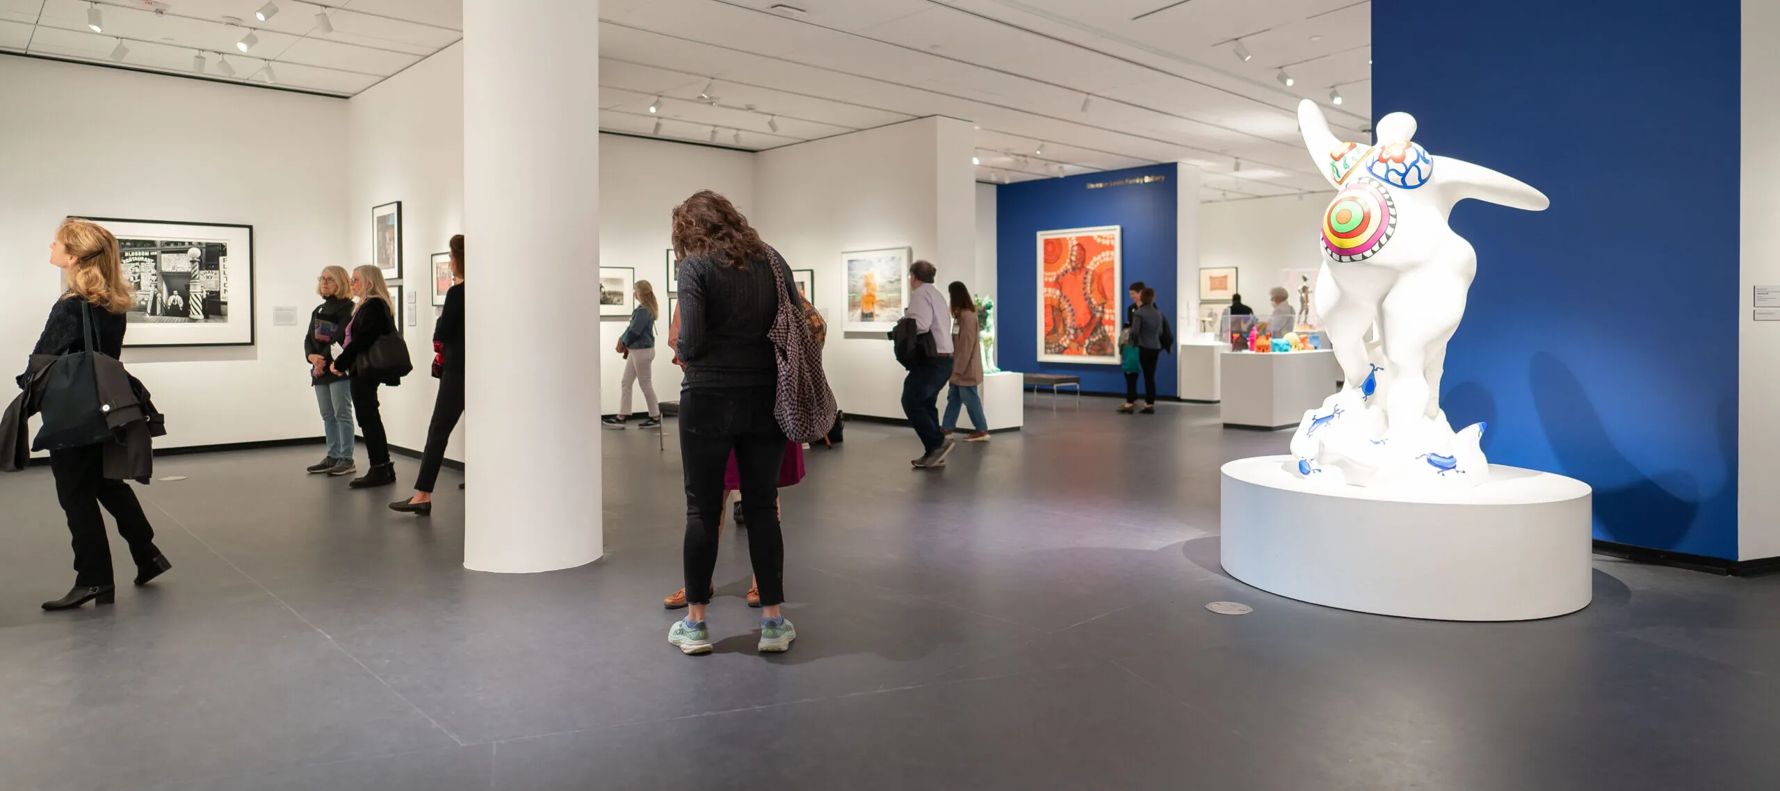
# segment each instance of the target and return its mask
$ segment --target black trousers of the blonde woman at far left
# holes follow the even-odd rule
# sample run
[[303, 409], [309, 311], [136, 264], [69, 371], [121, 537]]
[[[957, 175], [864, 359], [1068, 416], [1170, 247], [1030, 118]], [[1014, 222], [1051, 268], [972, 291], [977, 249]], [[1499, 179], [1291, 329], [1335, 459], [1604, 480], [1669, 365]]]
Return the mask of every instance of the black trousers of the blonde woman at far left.
[[62, 512], [68, 514], [68, 531], [75, 539], [75, 585], [84, 588], [112, 585], [110, 540], [105, 537], [100, 505], [117, 521], [117, 535], [130, 542], [135, 565], [160, 555], [155, 547], [155, 528], [148, 524], [135, 491], [121, 480], [107, 480], [103, 469], [105, 450], [100, 444], [50, 451], [55, 499], [61, 499]]

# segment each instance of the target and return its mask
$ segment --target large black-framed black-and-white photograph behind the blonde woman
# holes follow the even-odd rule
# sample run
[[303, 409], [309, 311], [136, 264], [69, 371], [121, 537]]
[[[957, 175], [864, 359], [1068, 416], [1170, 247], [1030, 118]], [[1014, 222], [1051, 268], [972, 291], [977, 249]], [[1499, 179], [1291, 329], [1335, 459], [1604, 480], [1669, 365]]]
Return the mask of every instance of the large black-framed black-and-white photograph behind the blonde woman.
[[253, 226], [85, 217], [135, 288], [125, 347], [251, 347]]

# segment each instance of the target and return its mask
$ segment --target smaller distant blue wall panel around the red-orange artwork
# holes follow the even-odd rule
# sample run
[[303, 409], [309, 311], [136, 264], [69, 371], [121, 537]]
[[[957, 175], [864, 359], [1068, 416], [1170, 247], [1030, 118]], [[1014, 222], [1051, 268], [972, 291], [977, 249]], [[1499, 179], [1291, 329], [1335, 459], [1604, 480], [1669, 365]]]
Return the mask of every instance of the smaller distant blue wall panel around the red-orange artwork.
[[[1089, 190], [1089, 183], [1121, 181], [1141, 176], [1168, 176], [1146, 185], [1121, 185]], [[1175, 165], [1132, 167], [1086, 176], [1047, 178], [1002, 185], [995, 194], [997, 292], [1000, 304], [995, 334], [999, 363], [1022, 373], [1073, 373], [1089, 393], [1125, 393], [1125, 375], [1116, 364], [1072, 364], [1038, 361], [1038, 233], [1068, 228], [1120, 226], [1123, 281], [1120, 283], [1120, 318], [1125, 286], [1143, 281], [1155, 288], [1155, 304], [1180, 336], [1180, 284], [1175, 272]], [[1193, 288], [1198, 288], [1194, 283]], [[1155, 368], [1155, 393], [1180, 391], [1175, 354], [1164, 354]], [[1139, 393], [1143, 384], [1137, 384]]]

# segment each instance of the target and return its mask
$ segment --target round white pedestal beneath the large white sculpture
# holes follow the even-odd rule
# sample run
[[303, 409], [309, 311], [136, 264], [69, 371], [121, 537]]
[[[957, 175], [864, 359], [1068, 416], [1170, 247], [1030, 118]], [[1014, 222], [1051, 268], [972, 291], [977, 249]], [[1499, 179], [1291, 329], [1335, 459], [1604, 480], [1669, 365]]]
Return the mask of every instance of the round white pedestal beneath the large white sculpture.
[[1591, 489], [1490, 466], [1472, 489], [1312, 483], [1292, 457], [1223, 466], [1223, 567], [1271, 594], [1363, 613], [1531, 620], [1588, 606]]

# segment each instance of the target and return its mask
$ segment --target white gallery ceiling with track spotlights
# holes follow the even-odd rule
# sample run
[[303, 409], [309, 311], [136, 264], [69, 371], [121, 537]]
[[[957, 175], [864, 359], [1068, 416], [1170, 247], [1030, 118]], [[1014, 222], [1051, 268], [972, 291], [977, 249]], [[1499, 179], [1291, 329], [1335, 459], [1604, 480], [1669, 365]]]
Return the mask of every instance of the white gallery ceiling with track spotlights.
[[[0, 0], [0, 50], [110, 64], [121, 37], [125, 68], [190, 73], [203, 52], [217, 78], [224, 53], [237, 82], [271, 60], [279, 87], [352, 96], [463, 36], [459, 0], [274, 0], [262, 23], [263, 2], [101, 0], [93, 34], [84, 0]], [[249, 53], [224, 16], [256, 30]], [[1371, 117], [1367, 0], [602, 0], [600, 18], [602, 130], [758, 151], [949, 116], [977, 126], [979, 181], [1189, 160], [1212, 199], [1324, 190], [1298, 100], [1349, 139]]]

